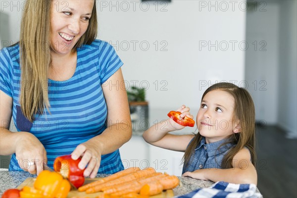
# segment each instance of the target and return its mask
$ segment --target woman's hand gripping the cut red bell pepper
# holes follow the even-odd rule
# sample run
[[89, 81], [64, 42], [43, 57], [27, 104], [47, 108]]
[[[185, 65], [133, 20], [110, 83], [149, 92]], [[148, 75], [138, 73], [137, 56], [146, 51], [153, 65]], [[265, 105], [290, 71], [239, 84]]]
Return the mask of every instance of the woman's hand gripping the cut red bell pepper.
[[71, 153], [71, 158], [76, 160], [80, 156], [82, 156], [82, 159], [78, 167], [83, 170], [88, 165], [84, 171], [84, 176], [95, 178], [101, 161], [101, 152], [98, 149], [98, 144], [87, 141], [78, 145]]

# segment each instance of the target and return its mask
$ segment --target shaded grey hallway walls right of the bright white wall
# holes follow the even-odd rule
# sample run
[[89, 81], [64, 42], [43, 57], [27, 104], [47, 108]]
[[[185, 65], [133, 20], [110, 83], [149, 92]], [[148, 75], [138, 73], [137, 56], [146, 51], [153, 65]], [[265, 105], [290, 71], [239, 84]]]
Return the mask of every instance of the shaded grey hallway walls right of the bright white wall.
[[246, 54], [246, 79], [257, 84], [248, 89], [256, 119], [279, 125], [291, 138], [297, 138], [296, 7], [296, 0], [259, 0], [247, 12], [247, 41], [257, 42]]

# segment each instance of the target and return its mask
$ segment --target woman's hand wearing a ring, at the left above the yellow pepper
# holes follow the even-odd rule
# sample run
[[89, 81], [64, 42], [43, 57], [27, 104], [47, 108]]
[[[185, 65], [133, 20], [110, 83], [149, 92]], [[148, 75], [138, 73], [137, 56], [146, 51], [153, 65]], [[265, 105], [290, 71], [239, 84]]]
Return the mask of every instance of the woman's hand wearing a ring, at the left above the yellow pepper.
[[21, 132], [16, 141], [15, 155], [19, 166], [31, 174], [43, 171], [47, 163], [47, 151], [43, 144], [31, 133]]

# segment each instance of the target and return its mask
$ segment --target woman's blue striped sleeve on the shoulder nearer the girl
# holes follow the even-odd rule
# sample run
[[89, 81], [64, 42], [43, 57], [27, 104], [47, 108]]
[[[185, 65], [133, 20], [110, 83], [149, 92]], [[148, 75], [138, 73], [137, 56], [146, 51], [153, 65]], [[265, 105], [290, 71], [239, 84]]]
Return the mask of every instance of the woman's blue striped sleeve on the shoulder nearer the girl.
[[123, 62], [110, 44], [103, 42], [101, 46], [102, 48], [100, 48], [99, 52], [99, 74], [101, 84], [103, 84], [123, 65]]

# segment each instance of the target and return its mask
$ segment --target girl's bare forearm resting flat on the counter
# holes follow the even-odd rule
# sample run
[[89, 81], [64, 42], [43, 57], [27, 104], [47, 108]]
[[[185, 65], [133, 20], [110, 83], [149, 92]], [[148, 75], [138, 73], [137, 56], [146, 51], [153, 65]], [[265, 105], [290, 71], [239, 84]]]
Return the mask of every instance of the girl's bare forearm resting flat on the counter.
[[240, 168], [229, 168], [229, 169], [218, 169], [209, 168], [202, 169], [203, 177], [206, 180], [213, 182], [224, 181], [234, 184], [255, 184], [257, 185], [257, 173], [254, 168], [240, 169]]

